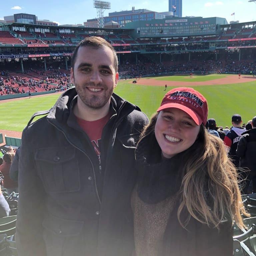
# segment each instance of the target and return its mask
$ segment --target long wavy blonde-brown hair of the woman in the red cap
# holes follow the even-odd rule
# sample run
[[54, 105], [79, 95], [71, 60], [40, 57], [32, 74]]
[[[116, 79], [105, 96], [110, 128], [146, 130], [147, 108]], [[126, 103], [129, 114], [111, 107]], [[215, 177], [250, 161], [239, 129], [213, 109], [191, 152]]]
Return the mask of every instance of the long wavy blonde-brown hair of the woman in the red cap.
[[[154, 114], [140, 139], [154, 132], [158, 113]], [[244, 228], [241, 215], [250, 216], [242, 203], [235, 166], [226, 153], [223, 141], [209, 134], [201, 125], [195, 143], [184, 152], [178, 220], [185, 227], [192, 216], [201, 223], [219, 228], [224, 218], [231, 217]], [[181, 220], [181, 212], [189, 217]]]

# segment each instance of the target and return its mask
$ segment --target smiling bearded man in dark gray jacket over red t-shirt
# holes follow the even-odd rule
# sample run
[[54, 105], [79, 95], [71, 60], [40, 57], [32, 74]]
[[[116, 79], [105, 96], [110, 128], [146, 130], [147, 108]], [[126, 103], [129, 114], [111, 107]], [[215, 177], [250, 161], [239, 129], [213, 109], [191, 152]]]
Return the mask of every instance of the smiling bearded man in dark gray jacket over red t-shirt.
[[74, 50], [71, 81], [47, 116], [24, 129], [19, 256], [131, 255], [134, 149], [148, 119], [113, 93], [118, 60], [100, 37]]

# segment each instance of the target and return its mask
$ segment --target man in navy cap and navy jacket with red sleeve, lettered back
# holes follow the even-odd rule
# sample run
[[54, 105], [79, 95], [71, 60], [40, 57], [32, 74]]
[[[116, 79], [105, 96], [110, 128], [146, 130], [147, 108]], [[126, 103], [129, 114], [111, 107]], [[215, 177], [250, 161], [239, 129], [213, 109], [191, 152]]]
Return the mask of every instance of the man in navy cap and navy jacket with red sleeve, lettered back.
[[238, 145], [238, 141], [245, 131], [244, 128], [241, 127], [242, 124], [242, 117], [238, 114], [232, 116], [232, 128], [230, 132], [227, 133], [224, 143], [229, 149], [229, 156], [233, 160], [234, 165], [238, 168], [239, 167], [239, 156], [236, 155], [236, 149]]

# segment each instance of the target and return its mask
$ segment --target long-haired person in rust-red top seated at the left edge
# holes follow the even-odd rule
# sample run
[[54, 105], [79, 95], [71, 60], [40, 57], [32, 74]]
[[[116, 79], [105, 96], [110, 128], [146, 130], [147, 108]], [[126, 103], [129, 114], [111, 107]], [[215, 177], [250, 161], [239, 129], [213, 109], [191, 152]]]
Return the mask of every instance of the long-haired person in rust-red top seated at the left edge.
[[12, 181], [10, 178], [10, 167], [12, 160], [14, 158], [14, 153], [6, 152], [3, 156], [3, 164], [0, 165], [0, 172], [4, 175], [4, 187], [6, 188], [8, 194], [11, 194], [13, 191], [18, 192], [18, 183]]

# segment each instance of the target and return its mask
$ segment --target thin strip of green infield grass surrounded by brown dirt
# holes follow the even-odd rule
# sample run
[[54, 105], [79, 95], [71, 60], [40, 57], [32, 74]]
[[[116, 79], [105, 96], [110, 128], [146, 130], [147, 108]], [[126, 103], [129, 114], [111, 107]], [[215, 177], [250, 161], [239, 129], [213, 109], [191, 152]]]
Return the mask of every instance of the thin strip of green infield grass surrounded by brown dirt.
[[156, 80], [160, 81], [177, 81], [177, 82], [205, 82], [205, 81], [210, 81], [210, 80], [215, 80], [215, 79], [220, 79], [220, 78], [225, 78], [226, 75], [207, 75], [207, 76], [196, 76], [193, 75], [190, 77], [190, 75], [187, 76], [163, 76], [159, 78], [155, 78]]

